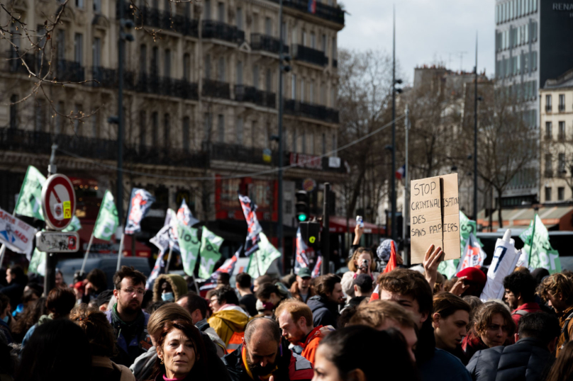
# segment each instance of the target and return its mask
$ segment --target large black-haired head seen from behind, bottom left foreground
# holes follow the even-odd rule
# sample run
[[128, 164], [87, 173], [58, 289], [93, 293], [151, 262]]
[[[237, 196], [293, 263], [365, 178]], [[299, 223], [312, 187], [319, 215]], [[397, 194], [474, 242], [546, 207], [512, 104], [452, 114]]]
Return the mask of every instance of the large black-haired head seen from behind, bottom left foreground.
[[89, 375], [89, 341], [68, 319], [46, 322], [23, 349], [15, 381], [77, 381]]

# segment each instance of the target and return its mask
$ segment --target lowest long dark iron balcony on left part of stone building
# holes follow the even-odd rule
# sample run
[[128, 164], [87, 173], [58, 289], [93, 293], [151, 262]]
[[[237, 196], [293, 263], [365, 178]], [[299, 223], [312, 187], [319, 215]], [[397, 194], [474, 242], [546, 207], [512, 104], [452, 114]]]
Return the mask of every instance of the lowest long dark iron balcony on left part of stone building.
[[[81, 157], [99, 160], [117, 159], [117, 140], [0, 128], [1, 151], [50, 154], [52, 143], [57, 143], [61, 149]], [[123, 152], [124, 161], [138, 164], [207, 168], [209, 163], [205, 152], [189, 152], [180, 148], [125, 144]]]

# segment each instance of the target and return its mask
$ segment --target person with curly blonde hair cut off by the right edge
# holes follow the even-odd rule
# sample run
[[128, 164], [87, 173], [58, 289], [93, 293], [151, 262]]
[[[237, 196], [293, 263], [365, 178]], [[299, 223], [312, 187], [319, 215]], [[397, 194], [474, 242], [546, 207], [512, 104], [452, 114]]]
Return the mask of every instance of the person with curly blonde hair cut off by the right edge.
[[566, 275], [556, 273], [549, 275], [538, 286], [537, 294], [557, 312], [561, 336], [557, 341], [557, 353], [559, 353], [567, 341], [573, 336], [573, 280]]

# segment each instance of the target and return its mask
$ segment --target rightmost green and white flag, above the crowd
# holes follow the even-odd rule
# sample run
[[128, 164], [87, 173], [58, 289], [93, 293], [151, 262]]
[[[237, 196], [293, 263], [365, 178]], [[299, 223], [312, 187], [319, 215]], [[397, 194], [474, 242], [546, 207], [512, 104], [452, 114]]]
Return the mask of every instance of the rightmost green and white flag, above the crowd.
[[549, 232], [539, 215], [535, 215], [528, 229], [519, 234], [519, 238], [525, 243], [522, 253], [526, 256], [525, 263], [528, 263], [530, 271], [547, 268], [551, 274], [561, 272], [559, 253], [551, 247]]

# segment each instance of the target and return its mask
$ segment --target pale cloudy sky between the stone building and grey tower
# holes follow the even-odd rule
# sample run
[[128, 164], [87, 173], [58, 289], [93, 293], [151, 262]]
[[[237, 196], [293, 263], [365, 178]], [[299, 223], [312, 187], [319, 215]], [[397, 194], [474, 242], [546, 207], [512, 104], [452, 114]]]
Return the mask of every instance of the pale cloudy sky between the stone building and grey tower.
[[[338, 47], [392, 52], [392, 1], [339, 0], [350, 14], [338, 33]], [[494, 72], [495, 0], [396, 1], [396, 60], [405, 80], [413, 80], [416, 66], [445, 62], [448, 69], [471, 71], [475, 35], [479, 34], [480, 72]]]

